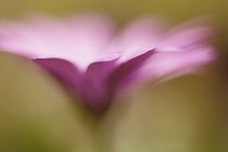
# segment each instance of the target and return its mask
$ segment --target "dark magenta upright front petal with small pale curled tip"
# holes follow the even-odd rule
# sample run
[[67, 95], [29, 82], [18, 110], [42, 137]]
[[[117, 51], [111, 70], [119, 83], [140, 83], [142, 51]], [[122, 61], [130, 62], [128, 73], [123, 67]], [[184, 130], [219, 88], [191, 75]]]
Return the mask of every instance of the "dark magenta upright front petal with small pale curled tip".
[[119, 58], [121, 54], [109, 54], [91, 63], [84, 74], [80, 89], [81, 100], [98, 114], [106, 111], [113, 100], [114, 92], [109, 89], [107, 78], [116, 69], [116, 61]]

